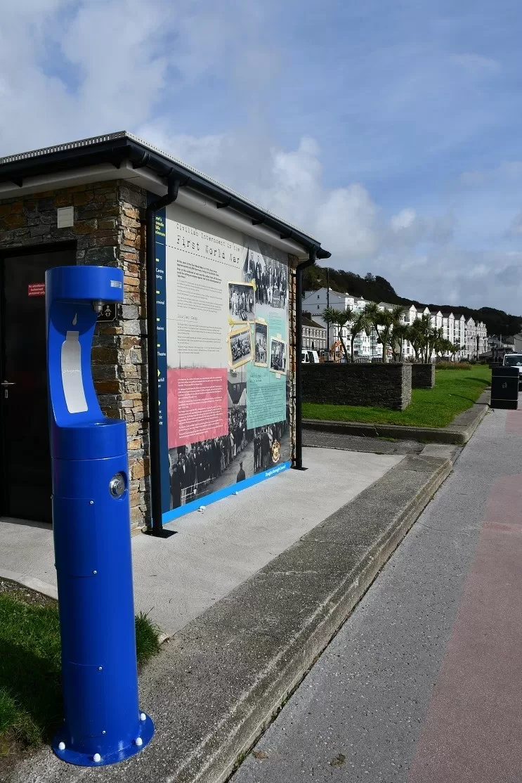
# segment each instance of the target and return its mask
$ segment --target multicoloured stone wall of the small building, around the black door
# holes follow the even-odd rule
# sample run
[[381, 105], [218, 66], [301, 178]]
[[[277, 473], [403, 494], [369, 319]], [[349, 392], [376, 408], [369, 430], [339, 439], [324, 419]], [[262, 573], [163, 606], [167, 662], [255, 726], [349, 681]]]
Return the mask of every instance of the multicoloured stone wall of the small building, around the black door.
[[[58, 207], [71, 206], [74, 226], [59, 229]], [[92, 362], [103, 413], [127, 423], [132, 532], [146, 526], [149, 511], [145, 207], [146, 191], [119, 180], [0, 201], [0, 251], [40, 252], [46, 244], [74, 241], [77, 264], [123, 269], [124, 304], [117, 319], [96, 327]]]

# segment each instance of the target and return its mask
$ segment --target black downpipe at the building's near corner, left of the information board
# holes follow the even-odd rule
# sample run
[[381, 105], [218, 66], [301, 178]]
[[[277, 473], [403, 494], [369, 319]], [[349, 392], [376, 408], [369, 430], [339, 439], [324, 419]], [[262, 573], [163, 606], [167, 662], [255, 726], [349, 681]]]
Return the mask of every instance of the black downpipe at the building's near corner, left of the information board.
[[156, 339], [156, 214], [178, 198], [179, 179], [168, 182], [167, 193], [146, 208], [146, 303], [147, 303], [147, 381], [149, 387], [149, 459], [150, 504], [153, 536], [166, 538], [170, 531], [163, 529], [161, 509], [161, 451], [160, 419], [157, 389], [157, 339]]

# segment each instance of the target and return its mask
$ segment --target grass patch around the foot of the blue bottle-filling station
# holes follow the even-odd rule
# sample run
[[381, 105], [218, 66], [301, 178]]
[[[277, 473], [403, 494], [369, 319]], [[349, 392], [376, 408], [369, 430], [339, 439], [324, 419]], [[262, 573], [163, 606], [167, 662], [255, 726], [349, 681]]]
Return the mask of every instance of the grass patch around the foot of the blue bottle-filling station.
[[[0, 593], [0, 756], [49, 742], [63, 720], [56, 602], [26, 603], [18, 593]], [[159, 651], [158, 634], [137, 615], [139, 665]]]

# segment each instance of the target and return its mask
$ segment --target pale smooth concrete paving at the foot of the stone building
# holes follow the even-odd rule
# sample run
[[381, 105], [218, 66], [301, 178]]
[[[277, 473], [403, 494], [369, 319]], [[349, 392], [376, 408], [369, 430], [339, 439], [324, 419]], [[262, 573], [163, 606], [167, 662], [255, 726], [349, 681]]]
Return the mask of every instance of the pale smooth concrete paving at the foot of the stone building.
[[[304, 449], [308, 471], [284, 471], [193, 511], [166, 525], [177, 531], [168, 539], [134, 536], [136, 611], [175, 633], [402, 459]], [[3, 520], [0, 526], [0, 572], [56, 585], [50, 525]]]

